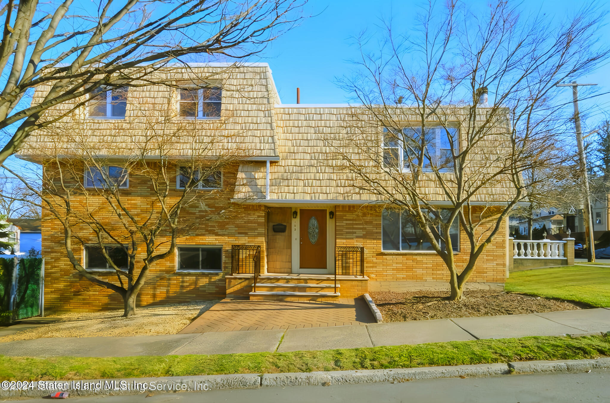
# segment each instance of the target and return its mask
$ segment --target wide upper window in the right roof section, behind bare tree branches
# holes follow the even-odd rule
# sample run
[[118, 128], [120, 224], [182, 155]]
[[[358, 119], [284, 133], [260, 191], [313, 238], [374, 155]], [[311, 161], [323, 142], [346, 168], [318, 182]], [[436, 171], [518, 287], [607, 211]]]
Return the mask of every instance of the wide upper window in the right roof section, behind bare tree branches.
[[404, 127], [402, 130], [384, 129], [383, 163], [386, 167], [411, 171], [420, 165], [423, 147], [423, 171], [453, 171], [453, 148], [458, 153], [458, 128], [444, 126]]

